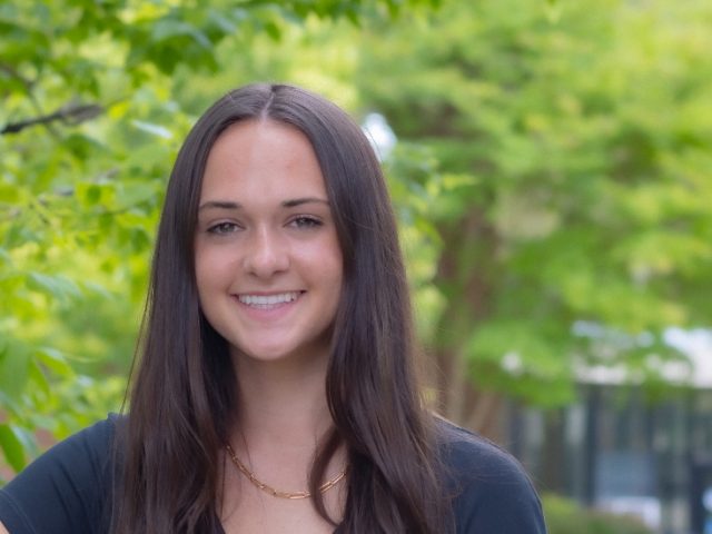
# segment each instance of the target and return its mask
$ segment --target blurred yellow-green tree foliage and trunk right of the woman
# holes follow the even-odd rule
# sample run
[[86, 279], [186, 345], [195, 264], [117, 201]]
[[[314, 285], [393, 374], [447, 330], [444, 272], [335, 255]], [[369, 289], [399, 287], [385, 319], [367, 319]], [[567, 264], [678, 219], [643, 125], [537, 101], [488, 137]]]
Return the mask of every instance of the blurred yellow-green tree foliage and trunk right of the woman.
[[[463, 354], [478, 388], [561, 405], [581, 364], [652, 377], [647, 356], [679, 357], [666, 327], [710, 324], [712, 9], [552, 9], [444, 2], [375, 28], [356, 80], [400, 139], [466, 177], [429, 211], [442, 358]], [[634, 343], [593, 347], [580, 322]]]

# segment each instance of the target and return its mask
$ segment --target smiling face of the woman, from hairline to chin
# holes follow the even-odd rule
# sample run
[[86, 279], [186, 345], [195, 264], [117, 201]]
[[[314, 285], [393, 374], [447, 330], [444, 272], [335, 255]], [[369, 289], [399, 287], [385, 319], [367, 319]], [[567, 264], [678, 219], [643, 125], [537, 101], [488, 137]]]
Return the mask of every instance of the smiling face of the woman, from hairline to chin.
[[220, 135], [202, 178], [195, 261], [201, 309], [234, 356], [328, 357], [342, 251], [300, 131], [267, 120]]

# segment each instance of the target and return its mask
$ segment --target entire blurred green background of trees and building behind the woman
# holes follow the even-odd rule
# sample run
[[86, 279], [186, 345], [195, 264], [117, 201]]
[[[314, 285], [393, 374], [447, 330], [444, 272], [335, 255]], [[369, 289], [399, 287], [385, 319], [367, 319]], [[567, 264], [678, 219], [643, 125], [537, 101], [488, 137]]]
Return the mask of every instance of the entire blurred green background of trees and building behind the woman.
[[121, 409], [179, 145], [284, 80], [370, 135], [429, 398], [551, 533], [711, 534], [710, 50], [709, 0], [1, 1], [0, 476]]

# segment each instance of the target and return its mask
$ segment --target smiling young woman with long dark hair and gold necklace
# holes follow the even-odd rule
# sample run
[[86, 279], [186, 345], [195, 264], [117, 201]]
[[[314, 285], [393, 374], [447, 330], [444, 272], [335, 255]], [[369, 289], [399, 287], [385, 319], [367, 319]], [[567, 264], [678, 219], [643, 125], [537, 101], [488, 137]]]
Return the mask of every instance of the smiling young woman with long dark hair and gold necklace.
[[11, 534], [544, 533], [518, 464], [424, 405], [413, 352], [366, 137], [305, 90], [238, 89], [171, 174], [128, 414], [29, 466], [0, 492], [0, 521]]

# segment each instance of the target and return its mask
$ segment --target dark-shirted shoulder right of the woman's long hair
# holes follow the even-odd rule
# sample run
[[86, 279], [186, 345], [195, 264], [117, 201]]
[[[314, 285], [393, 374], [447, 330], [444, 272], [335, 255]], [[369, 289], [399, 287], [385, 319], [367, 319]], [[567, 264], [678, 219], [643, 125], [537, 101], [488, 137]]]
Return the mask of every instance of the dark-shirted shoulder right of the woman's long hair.
[[458, 534], [546, 532], [536, 491], [516, 458], [494, 443], [446, 422], [439, 424], [439, 436]]

